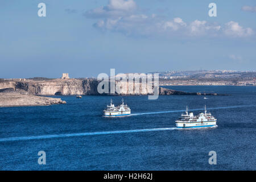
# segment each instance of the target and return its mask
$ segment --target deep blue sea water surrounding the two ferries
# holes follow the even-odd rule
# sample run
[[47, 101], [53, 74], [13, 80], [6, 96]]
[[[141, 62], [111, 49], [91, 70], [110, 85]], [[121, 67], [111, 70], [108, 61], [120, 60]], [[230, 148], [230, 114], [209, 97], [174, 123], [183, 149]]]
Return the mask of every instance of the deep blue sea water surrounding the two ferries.
[[[1, 170], [255, 170], [256, 87], [167, 86], [229, 96], [56, 96], [66, 105], [0, 108]], [[102, 117], [113, 99], [132, 115]], [[207, 105], [218, 127], [175, 128], [188, 105]], [[46, 165], [38, 152], [46, 152]], [[208, 163], [216, 151], [217, 164]]]

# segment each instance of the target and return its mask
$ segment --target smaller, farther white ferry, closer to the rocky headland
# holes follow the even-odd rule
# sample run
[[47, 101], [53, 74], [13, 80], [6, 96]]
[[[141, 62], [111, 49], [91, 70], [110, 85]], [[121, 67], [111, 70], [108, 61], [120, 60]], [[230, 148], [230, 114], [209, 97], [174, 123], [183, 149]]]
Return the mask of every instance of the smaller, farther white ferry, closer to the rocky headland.
[[110, 105], [103, 111], [105, 117], [117, 117], [131, 114], [131, 109], [122, 100], [122, 104], [119, 106], [114, 106], [112, 100]]

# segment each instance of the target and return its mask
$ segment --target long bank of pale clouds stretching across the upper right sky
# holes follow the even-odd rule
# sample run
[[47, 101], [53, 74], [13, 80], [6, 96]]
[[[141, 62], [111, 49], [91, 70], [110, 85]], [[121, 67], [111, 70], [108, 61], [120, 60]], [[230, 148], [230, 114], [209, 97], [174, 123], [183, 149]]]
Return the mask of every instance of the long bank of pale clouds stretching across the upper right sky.
[[[245, 7], [244, 9], [248, 9]], [[163, 36], [229, 36], [243, 38], [251, 36], [251, 28], [230, 21], [223, 26], [205, 20], [185, 22], [176, 17], [166, 20], [156, 14], [141, 14], [134, 0], [110, 0], [106, 6], [86, 11], [86, 18], [96, 19], [94, 27], [102, 31], [121, 32], [125, 35]]]

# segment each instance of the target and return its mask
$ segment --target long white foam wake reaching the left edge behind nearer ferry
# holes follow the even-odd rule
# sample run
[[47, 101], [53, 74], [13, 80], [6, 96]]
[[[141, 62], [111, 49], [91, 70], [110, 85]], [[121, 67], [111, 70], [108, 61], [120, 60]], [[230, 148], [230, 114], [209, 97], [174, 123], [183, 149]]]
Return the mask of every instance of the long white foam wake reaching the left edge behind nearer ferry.
[[31, 136], [31, 137], [10, 137], [10, 138], [0, 138], [0, 142], [8, 142], [8, 141], [16, 141], [16, 140], [50, 139], [50, 138], [61, 138], [61, 137], [81, 137], [81, 136], [89, 136], [89, 135], [138, 133], [138, 132], [164, 131], [164, 130], [176, 130], [176, 129], [177, 129], [176, 127], [164, 127], [164, 128], [158, 128], [158, 129], [99, 131], [99, 132], [90, 132], [90, 133], [71, 133], [71, 134], [40, 135], [40, 136]]

